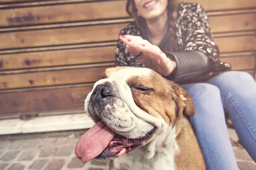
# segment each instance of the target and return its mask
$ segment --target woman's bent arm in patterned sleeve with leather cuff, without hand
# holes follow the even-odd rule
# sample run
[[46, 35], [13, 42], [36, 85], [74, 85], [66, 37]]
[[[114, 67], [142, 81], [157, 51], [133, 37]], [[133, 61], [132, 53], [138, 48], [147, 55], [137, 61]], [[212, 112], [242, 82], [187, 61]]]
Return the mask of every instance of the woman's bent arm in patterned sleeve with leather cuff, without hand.
[[229, 70], [229, 64], [219, 61], [219, 50], [204, 9], [199, 4], [181, 3], [178, 11], [180, 37], [177, 38], [181, 52], [165, 52], [177, 62], [176, 71], [166, 78], [180, 82], [209, 77], [212, 71]]

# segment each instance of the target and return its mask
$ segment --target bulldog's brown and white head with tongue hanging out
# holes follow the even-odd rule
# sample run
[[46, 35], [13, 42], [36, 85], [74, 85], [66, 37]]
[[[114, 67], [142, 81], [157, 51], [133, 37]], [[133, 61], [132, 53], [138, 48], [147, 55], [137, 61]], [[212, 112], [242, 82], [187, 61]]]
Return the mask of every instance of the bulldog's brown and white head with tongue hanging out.
[[195, 113], [191, 96], [148, 68], [108, 68], [85, 100], [96, 123], [76, 144], [76, 156], [109, 160], [145, 147], [148, 158], [157, 146], [175, 139], [177, 121]]

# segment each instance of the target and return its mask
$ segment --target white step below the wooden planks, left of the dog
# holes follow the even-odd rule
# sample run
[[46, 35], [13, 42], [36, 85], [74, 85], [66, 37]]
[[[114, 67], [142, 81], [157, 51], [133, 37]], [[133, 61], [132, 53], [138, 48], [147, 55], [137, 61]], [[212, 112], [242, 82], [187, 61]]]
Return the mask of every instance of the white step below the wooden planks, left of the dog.
[[38, 116], [29, 120], [2, 119], [0, 120], [0, 135], [79, 130], [90, 128], [93, 125], [93, 121], [85, 113]]

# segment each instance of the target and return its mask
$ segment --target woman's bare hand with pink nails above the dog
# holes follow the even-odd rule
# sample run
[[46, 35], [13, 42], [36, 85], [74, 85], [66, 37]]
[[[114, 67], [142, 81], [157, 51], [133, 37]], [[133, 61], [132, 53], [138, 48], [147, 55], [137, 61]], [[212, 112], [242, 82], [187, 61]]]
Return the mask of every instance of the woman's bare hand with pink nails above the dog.
[[138, 57], [141, 63], [163, 76], [168, 76], [176, 68], [176, 62], [172, 61], [164, 54], [157, 45], [152, 45], [147, 40], [139, 36], [120, 35], [119, 39], [126, 44], [127, 50], [134, 56]]

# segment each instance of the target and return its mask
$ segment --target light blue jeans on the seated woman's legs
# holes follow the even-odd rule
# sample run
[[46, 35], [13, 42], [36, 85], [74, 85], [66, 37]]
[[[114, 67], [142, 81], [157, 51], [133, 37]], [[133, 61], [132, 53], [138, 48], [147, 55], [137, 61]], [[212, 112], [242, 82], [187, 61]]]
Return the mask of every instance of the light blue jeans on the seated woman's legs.
[[193, 98], [196, 113], [190, 122], [207, 170], [238, 170], [227, 133], [224, 109], [241, 144], [256, 161], [256, 82], [250, 74], [229, 71], [206, 83], [181, 85]]

